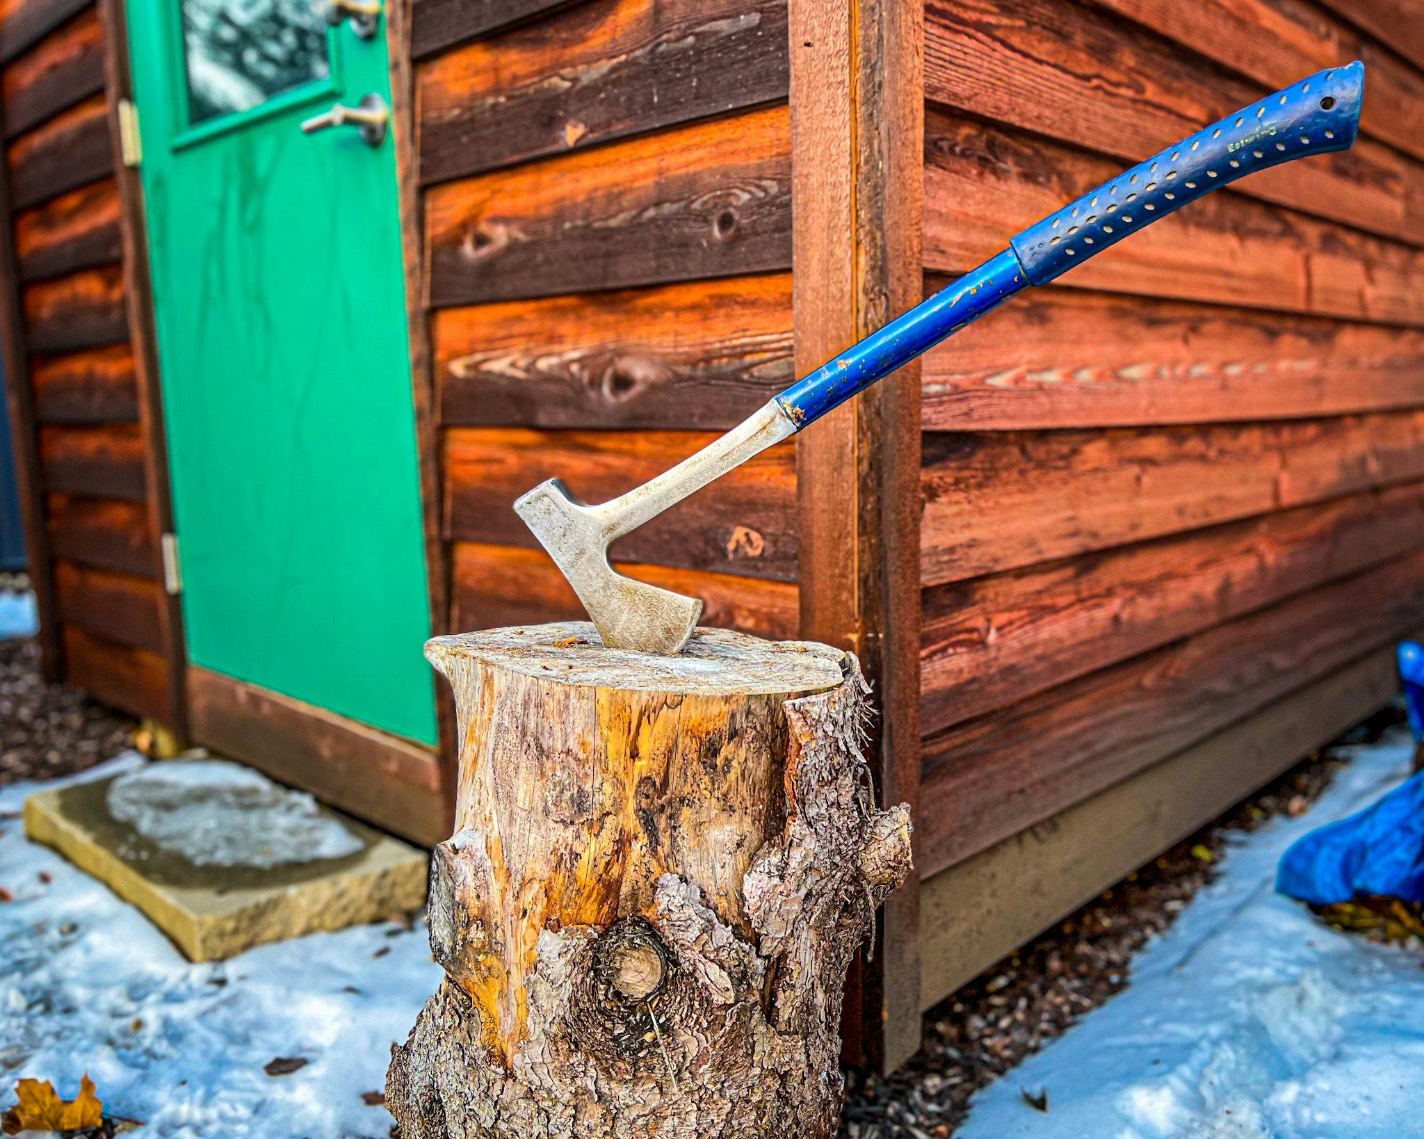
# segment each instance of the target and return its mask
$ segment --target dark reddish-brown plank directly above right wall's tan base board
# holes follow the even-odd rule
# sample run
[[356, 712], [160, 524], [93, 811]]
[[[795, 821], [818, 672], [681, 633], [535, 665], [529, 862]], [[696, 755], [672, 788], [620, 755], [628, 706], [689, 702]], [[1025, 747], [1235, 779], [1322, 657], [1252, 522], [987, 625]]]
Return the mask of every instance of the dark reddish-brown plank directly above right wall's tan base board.
[[934, 874], [1424, 622], [1424, 552], [1218, 625], [926, 743]]

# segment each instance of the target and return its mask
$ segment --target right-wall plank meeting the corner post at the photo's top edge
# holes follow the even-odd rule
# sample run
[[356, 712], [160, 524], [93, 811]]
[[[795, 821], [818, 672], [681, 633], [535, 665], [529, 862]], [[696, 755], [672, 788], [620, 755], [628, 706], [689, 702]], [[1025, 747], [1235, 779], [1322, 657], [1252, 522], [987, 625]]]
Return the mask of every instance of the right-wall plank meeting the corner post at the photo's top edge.
[[[1136, 162], [1273, 88], [1125, 28], [1088, 0], [928, 0], [934, 103]], [[1263, 198], [1420, 243], [1424, 165], [1371, 140], [1235, 184]]]

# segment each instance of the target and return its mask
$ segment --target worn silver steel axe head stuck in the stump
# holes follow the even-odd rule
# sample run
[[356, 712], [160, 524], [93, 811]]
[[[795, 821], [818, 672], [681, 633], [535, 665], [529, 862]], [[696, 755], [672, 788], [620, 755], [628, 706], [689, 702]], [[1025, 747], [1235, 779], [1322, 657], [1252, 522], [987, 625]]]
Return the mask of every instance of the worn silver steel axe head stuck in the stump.
[[702, 602], [617, 572], [608, 544], [621, 535], [597, 507], [550, 478], [523, 494], [514, 510], [568, 578], [605, 645], [671, 656], [688, 644]]

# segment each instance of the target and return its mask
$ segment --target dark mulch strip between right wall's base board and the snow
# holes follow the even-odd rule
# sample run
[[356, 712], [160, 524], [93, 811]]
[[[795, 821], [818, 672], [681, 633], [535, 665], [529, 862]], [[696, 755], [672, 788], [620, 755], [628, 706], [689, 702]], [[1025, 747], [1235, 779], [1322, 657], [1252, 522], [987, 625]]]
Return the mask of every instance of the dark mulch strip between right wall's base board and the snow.
[[936, 1005], [904, 1068], [889, 1078], [847, 1072], [842, 1139], [953, 1135], [974, 1092], [1126, 985], [1132, 955], [1212, 881], [1232, 831], [1302, 814], [1344, 763], [1334, 747], [1403, 722], [1390, 708], [1353, 728]]

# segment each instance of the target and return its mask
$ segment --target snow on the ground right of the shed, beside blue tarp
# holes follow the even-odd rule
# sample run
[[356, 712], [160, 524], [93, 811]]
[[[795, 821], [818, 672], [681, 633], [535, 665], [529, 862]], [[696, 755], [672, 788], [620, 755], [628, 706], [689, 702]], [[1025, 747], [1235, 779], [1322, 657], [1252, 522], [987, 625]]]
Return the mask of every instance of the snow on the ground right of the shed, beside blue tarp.
[[[1424, 1135], [1424, 955], [1274, 893], [1286, 847], [1396, 786], [1413, 743], [1344, 750], [1309, 813], [1235, 841], [1122, 994], [974, 1099], [964, 1139]], [[1047, 1091], [1048, 1112], [1025, 1091]]]

